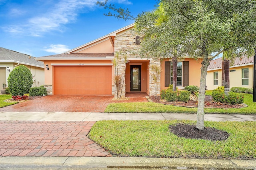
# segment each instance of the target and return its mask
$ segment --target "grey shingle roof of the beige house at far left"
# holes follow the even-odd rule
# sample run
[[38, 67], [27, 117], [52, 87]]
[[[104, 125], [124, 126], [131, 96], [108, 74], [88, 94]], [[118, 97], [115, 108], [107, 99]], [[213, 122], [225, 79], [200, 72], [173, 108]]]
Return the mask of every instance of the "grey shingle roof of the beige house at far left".
[[44, 68], [44, 63], [42, 61], [36, 61], [35, 57], [2, 47], [0, 47], [0, 63], [20, 63]]

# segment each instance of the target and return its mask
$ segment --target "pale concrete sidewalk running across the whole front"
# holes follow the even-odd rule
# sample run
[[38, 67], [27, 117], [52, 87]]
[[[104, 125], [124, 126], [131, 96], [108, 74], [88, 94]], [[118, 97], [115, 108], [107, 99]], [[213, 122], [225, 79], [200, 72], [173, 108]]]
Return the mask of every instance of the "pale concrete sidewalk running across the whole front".
[[[189, 113], [83, 113], [83, 112], [0, 112], [0, 120], [99, 121], [99, 120], [194, 120]], [[256, 121], [256, 115], [205, 114], [205, 121]]]

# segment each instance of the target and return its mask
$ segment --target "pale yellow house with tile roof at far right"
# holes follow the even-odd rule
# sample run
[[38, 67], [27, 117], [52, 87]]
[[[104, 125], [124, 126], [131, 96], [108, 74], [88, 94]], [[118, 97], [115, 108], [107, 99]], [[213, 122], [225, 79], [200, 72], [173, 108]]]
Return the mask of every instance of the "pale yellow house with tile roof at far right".
[[[229, 72], [230, 88], [253, 87], [253, 57], [236, 58]], [[222, 58], [210, 61], [207, 69], [206, 86], [214, 90], [222, 84]]]

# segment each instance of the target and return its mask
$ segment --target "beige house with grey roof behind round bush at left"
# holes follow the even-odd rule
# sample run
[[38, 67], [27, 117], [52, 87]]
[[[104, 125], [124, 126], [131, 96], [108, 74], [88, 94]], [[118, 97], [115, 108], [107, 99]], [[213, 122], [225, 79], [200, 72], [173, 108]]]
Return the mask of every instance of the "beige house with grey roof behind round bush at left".
[[[7, 84], [10, 72], [20, 64], [28, 67], [33, 76], [32, 87], [44, 84], [44, 63], [34, 60], [35, 57], [0, 47], [0, 89]], [[7, 85], [8, 86], [8, 85]]]

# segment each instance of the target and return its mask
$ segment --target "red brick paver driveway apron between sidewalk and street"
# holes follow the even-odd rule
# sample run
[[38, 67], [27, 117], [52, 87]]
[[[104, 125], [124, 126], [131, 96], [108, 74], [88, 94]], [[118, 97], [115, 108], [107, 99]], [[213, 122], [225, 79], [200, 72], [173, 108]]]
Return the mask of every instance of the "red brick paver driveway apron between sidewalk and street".
[[95, 121], [0, 121], [0, 156], [112, 156], [86, 135]]

